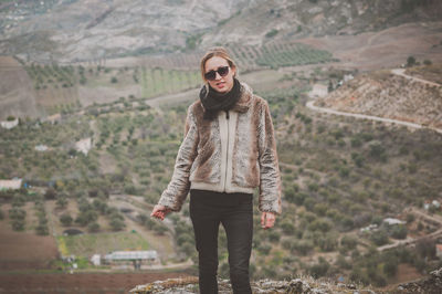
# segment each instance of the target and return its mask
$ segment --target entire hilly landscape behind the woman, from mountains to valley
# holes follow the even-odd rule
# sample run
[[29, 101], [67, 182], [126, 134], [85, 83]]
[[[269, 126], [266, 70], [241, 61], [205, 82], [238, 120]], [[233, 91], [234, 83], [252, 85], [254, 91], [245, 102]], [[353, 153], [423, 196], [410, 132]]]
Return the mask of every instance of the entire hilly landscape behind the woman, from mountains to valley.
[[[372, 293], [424, 279], [442, 266], [442, 209], [432, 204], [442, 202], [441, 6], [0, 1], [0, 120], [21, 118], [0, 128], [0, 179], [25, 183], [0, 190], [0, 284], [120, 293], [196, 275], [188, 203], [164, 222], [148, 216], [172, 176], [202, 83], [199, 59], [213, 44], [229, 49], [275, 126], [283, 213], [272, 230], [254, 228], [255, 285]], [[312, 99], [318, 86], [332, 91]], [[257, 209], [253, 217], [259, 224]], [[221, 230], [220, 279], [229, 276], [225, 242]], [[88, 262], [150, 249], [158, 259], [139, 272]], [[191, 280], [183, 291], [194, 290]]]

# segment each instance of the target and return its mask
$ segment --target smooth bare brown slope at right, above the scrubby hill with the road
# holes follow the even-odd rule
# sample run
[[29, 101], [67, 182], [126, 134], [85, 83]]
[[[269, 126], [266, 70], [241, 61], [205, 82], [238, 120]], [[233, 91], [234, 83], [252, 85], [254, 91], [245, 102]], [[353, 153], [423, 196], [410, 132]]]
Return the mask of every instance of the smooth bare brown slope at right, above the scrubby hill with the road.
[[442, 61], [442, 22], [406, 23], [357, 35], [307, 38], [297, 42], [327, 50], [339, 59], [338, 67], [372, 71], [396, 67], [410, 55], [418, 61]]

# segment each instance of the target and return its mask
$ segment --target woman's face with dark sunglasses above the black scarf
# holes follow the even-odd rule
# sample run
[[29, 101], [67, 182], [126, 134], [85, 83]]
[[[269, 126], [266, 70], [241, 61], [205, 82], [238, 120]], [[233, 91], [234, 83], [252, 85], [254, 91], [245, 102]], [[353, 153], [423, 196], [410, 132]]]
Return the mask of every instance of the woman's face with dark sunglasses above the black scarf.
[[[208, 60], [204, 64], [206, 73], [210, 71], [218, 71], [218, 69], [229, 66], [229, 62], [220, 56], [213, 56]], [[206, 80], [209, 85], [217, 92], [228, 93], [233, 87], [233, 76], [235, 69], [229, 66], [229, 73], [225, 76], [221, 76], [218, 72], [213, 81]]]

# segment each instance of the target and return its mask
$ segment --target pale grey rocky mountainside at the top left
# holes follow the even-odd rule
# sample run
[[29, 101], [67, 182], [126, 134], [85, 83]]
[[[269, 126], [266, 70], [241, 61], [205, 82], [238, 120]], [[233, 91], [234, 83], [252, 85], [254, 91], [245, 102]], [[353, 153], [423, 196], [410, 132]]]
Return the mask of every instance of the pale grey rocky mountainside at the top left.
[[[29, 15], [18, 7], [7, 15], [23, 14], [8, 30], [3, 22], [3, 54], [28, 54], [31, 60], [94, 60], [136, 51], [185, 48], [191, 33], [211, 28], [230, 17], [245, 1], [60, 1], [44, 14]], [[20, 35], [50, 32], [40, 42], [53, 41], [52, 50], [18, 46]], [[34, 45], [34, 44], [33, 44]]]

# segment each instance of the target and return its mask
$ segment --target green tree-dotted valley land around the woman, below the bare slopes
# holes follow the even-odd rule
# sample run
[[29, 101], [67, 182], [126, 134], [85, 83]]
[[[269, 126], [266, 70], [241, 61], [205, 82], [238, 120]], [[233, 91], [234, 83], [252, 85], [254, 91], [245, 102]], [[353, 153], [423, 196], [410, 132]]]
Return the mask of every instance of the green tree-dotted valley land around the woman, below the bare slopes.
[[[93, 74], [88, 67], [83, 70], [87, 83], [108, 81], [114, 71], [96, 74], [96, 67], [91, 69]], [[135, 67], [120, 70], [122, 80], [135, 73]], [[318, 114], [305, 107], [309, 81], [336, 84], [348, 73], [327, 64], [288, 70], [241, 75], [269, 101], [284, 189], [284, 213], [275, 228], [254, 230], [253, 279], [309, 274], [382, 287], [439, 269], [434, 244], [441, 242], [442, 212], [422, 207], [442, 197], [440, 134]], [[422, 69], [419, 72], [425, 75]], [[160, 71], [154, 75], [161, 76]], [[164, 93], [160, 97], [173, 96], [167, 94], [160, 78], [155, 81], [154, 88]], [[177, 77], [177, 87], [178, 81], [182, 78]], [[94, 250], [167, 248], [169, 252], [158, 250], [161, 262], [186, 265], [194, 274], [188, 206], [165, 223], [147, 217], [171, 177], [193, 92], [176, 95], [171, 104], [159, 97], [123, 97], [65, 109], [56, 124], [29, 119], [2, 130], [0, 176], [23, 178], [34, 186], [0, 193], [1, 228], [9, 230], [4, 235], [11, 230], [55, 233], [52, 242], [57, 251], [75, 253], [82, 271], [102, 270], [87, 263]], [[156, 104], [149, 107], [152, 101]], [[94, 139], [87, 156], [75, 150], [76, 141], [90, 137]], [[46, 150], [35, 149], [42, 144]], [[24, 221], [20, 219], [23, 214]], [[63, 224], [64, 214], [70, 214], [70, 223]], [[386, 218], [403, 223], [391, 228]], [[259, 219], [255, 211], [255, 223]], [[367, 229], [373, 227], [377, 229]], [[84, 235], [63, 237], [66, 229], [81, 230]], [[221, 277], [228, 276], [224, 242], [221, 231]], [[9, 245], [18, 248], [17, 243]], [[3, 264], [12, 266], [19, 261], [4, 260]], [[46, 270], [59, 273], [66, 269], [67, 264], [54, 259]], [[113, 269], [103, 269], [107, 270]]]

